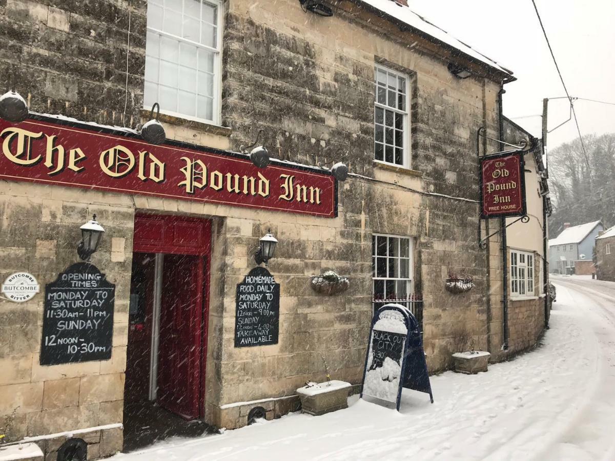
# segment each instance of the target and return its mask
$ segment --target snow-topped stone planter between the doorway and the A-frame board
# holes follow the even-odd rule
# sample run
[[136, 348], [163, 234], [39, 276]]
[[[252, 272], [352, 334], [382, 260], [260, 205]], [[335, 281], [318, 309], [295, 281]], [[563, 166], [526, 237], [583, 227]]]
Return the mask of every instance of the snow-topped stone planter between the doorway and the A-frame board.
[[297, 389], [301, 399], [301, 411], [320, 416], [331, 411], [348, 408], [349, 382], [332, 380]]

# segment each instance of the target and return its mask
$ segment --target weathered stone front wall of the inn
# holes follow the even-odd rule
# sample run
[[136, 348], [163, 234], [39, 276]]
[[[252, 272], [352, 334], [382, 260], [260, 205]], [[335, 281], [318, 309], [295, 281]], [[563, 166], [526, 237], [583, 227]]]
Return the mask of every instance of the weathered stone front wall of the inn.
[[[147, 42], [156, 34], [169, 37], [154, 24], [161, 2], [0, 0], [0, 82], [14, 86], [31, 112], [63, 116], [41, 116], [46, 123], [70, 126], [65, 117], [72, 117], [97, 124], [80, 124], [82, 130], [134, 136], [131, 130], [149, 119], [148, 91], [156, 91], [169, 145], [239, 152], [263, 130], [260, 142], [279, 159], [277, 167], [313, 165], [312, 171], [329, 174], [344, 162], [351, 172], [337, 183], [333, 218], [3, 176], [0, 279], [26, 271], [44, 293], [78, 260], [79, 226], [95, 214], [106, 232], [92, 263], [116, 285], [109, 360], [39, 364], [42, 294], [22, 304], [0, 300], [6, 371], [0, 414], [11, 421], [11, 440], [56, 434], [39, 441], [48, 459], [66, 431], [81, 434], [90, 458], [122, 449], [127, 396], [134, 390], [125, 383], [136, 366], [131, 338], [140, 325], [130, 313], [131, 280], [134, 286], [135, 263], [146, 264], [146, 252], [133, 251], [135, 216], [208, 223], [198, 406], [199, 419], [217, 427], [247, 424], [256, 406], [268, 418], [296, 408], [296, 388], [325, 379], [323, 358], [335, 379], [360, 384], [374, 292], [384, 286], [388, 297], [391, 280], [403, 285], [391, 282], [394, 296], [422, 295], [430, 372], [450, 368], [451, 353], [469, 347], [459, 338], [471, 337], [493, 360], [534, 344], [544, 318], [526, 315], [519, 305], [510, 314], [510, 337], [525, 336], [502, 350], [501, 240], [491, 237], [486, 250], [477, 245], [478, 226], [488, 235], [499, 223], [478, 219], [477, 142], [483, 152], [497, 151], [498, 144], [477, 141], [476, 133], [485, 127], [491, 138], [500, 135], [499, 92], [513, 77], [461, 42], [435, 39], [429, 23], [411, 25], [407, 7], [396, 6], [402, 13], [394, 17], [387, 13], [390, 0], [381, 0], [381, 9], [375, 3], [336, 1], [333, 17], [324, 18], [294, 0], [204, 2], [215, 10], [207, 26], [217, 39], [199, 48], [214, 63], [213, 77], [203, 77], [213, 78], [213, 93], [204, 93], [199, 106], [213, 112], [199, 117], [199, 109], [195, 116], [181, 114], [179, 104], [165, 107], [161, 85], [148, 90], [147, 60], [160, 64], [162, 58]], [[458, 68], [470, 76], [455, 76]], [[403, 140], [385, 142], [385, 134], [383, 151], [376, 145], [375, 154], [378, 76], [384, 75], [378, 69], [404, 82], [397, 97], [406, 103], [392, 111], [405, 117]], [[386, 120], [383, 125], [395, 128]], [[0, 175], [9, 161], [0, 157]], [[259, 238], [269, 229], [279, 240], [268, 265], [280, 283], [279, 342], [234, 347], [236, 286], [255, 266]], [[391, 245], [399, 246], [388, 250]], [[388, 266], [392, 251], [408, 270], [379, 274], [379, 259]], [[351, 289], [335, 297], [314, 293], [311, 276], [326, 270], [349, 276]], [[475, 288], [448, 293], [445, 282], [453, 274], [472, 277]]]

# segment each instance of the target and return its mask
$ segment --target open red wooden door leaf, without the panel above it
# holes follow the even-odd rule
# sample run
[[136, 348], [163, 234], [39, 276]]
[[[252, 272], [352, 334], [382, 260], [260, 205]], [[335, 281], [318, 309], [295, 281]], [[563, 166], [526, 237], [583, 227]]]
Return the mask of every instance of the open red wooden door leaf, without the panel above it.
[[185, 419], [199, 417], [203, 258], [165, 254], [157, 401]]

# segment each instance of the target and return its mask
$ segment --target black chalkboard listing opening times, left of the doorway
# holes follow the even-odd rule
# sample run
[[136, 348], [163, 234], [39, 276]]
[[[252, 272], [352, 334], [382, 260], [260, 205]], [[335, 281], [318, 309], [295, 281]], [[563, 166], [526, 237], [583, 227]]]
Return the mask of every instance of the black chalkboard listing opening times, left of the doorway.
[[115, 285], [77, 262], [45, 288], [41, 365], [107, 360], [113, 341]]

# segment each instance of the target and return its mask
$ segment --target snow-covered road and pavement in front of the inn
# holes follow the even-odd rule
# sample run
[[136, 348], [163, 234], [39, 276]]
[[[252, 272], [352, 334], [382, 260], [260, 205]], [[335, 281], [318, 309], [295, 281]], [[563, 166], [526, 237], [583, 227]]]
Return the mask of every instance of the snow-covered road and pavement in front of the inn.
[[432, 377], [434, 404], [404, 390], [398, 413], [354, 397], [325, 416], [291, 414], [113, 459], [615, 460], [615, 283], [554, 281], [541, 347], [486, 373]]

